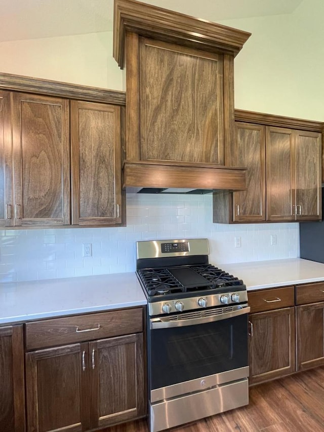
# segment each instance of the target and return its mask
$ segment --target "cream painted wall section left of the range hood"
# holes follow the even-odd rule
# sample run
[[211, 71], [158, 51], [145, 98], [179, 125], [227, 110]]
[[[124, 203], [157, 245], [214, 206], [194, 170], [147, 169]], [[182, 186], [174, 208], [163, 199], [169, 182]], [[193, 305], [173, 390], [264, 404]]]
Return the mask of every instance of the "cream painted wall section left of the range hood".
[[123, 90], [112, 32], [0, 43], [0, 71]]

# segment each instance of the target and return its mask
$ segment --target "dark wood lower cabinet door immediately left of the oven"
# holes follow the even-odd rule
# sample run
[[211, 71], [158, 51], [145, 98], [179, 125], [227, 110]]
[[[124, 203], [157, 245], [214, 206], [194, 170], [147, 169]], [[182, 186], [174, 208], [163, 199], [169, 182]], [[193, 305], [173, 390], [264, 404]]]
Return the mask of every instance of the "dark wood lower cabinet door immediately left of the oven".
[[91, 427], [105, 427], [146, 413], [143, 334], [90, 342]]

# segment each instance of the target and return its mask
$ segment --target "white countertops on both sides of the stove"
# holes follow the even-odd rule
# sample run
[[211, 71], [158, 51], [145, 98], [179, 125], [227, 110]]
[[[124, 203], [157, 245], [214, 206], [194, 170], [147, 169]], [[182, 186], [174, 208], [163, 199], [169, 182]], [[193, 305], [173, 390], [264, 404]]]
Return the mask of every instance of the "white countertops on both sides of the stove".
[[[324, 281], [324, 264], [305, 259], [222, 264], [248, 290]], [[0, 284], [0, 324], [147, 303], [135, 272]]]

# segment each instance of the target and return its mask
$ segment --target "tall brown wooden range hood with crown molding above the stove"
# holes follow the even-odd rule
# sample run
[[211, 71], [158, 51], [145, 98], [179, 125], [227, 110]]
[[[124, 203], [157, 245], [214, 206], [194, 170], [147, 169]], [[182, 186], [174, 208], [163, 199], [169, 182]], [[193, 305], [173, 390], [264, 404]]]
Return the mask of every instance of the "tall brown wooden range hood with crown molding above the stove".
[[230, 146], [234, 57], [250, 34], [114, 0], [113, 56], [126, 68], [126, 189], [246, 188]]

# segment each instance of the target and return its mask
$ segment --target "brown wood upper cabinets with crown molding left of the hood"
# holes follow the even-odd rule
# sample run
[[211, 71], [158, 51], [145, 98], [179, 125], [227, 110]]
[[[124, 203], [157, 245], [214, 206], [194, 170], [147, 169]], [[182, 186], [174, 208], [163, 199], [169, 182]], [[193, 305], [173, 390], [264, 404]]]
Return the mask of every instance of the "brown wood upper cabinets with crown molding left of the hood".
[[0, 73], [5, 86], [15, 91], [0, 89], [0, 227], [125, 225], [125, 93]]

